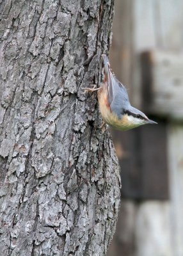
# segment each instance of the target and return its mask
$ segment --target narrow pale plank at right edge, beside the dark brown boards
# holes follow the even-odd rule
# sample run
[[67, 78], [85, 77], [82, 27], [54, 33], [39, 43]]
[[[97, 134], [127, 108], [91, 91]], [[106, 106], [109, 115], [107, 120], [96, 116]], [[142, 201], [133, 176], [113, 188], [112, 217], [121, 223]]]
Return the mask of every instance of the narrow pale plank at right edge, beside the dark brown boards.
[[171, 189], [171, 232], [173, 255], [183, 255], [183, 127], [170, 124], [168, 129], [168, 159]]

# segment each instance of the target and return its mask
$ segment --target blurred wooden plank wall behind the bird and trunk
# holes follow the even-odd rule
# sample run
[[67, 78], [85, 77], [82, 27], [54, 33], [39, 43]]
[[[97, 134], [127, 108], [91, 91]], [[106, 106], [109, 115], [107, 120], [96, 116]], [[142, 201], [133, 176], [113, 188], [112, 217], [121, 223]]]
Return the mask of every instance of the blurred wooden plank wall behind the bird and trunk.
[[182, 0], [115, 0], [111, 67], [158, 125], [113, 131], [122, 204], [107, 256], [183, 255], [182, 48]]

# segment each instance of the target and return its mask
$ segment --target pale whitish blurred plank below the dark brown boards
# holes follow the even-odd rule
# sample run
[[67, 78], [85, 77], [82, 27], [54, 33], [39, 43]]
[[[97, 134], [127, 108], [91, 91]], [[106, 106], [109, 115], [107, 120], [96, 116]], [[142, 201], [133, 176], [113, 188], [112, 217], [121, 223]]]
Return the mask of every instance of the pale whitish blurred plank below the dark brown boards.
[[148, 201], [139, 205], [135, 237], [134, 256], [180, 256], [171, 250], [169, 202]]

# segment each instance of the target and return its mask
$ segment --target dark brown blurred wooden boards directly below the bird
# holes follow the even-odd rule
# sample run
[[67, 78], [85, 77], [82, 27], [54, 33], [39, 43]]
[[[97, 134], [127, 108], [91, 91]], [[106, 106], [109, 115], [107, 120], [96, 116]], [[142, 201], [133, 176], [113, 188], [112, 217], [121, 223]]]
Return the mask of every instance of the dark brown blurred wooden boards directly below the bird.
[[115, 131], [113, 140], [122, 168], [122, 197], [168, 199], [166, 124]]

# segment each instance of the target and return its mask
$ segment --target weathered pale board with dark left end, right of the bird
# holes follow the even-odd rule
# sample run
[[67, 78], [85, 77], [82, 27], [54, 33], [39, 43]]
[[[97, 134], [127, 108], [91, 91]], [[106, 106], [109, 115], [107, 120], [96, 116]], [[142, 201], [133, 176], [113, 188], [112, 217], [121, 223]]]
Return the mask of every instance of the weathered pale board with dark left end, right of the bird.
[[144, 111], [183, 119], [183, 54], [144, 52], [141, 64]]

